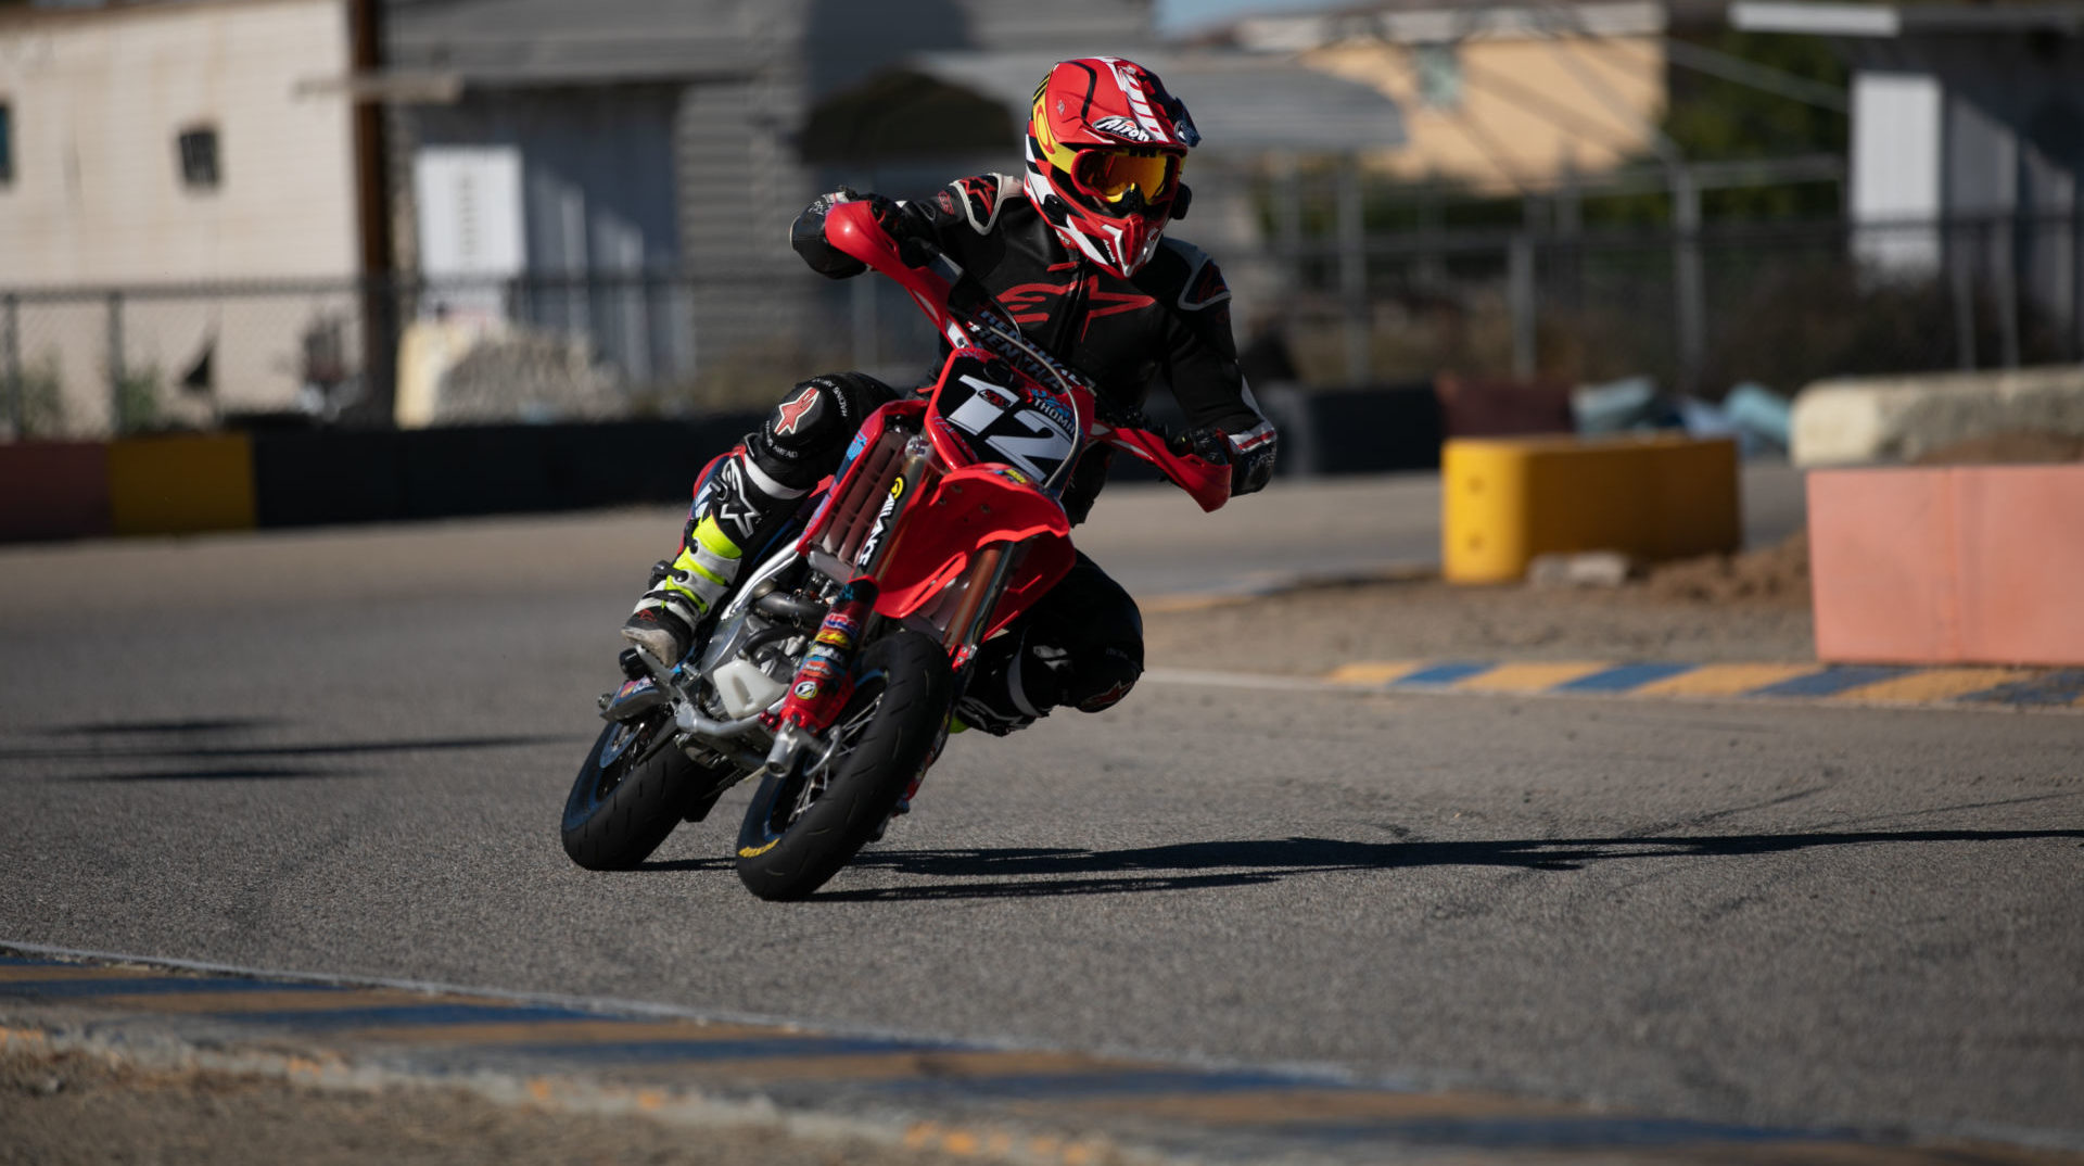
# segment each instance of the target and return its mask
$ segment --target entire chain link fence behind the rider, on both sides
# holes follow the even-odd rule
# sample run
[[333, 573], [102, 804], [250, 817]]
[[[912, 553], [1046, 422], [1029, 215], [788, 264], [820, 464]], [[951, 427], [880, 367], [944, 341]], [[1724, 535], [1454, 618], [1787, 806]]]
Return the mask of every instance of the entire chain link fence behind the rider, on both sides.
[[[1407, 232], [1221, 259], [1252, 273], [1240, 344], [1273, 344], [1302, 384], [1648, 375], [1713, 398], [2076, 361], [2080, 240], [2067, 217], [1982, 217]], [[0, 436], [688, 415], [832, 369], [909, 382], [934, 357], [898, 288], [802, 269], [0, 288]]]

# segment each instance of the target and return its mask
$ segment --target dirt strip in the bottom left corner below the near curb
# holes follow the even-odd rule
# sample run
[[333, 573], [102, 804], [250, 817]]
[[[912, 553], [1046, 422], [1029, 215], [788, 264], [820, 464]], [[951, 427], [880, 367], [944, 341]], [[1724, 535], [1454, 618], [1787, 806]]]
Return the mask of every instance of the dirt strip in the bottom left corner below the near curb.
[[[496, 1106], [458, 1089], [321, 1091], [144, 1072], [88, 1053], [0, 1053], [0, 1166], [952, 1166], [957, 1158], [771, 1128]], [[969, 1162], [975, 1162], [969, 1158]]]

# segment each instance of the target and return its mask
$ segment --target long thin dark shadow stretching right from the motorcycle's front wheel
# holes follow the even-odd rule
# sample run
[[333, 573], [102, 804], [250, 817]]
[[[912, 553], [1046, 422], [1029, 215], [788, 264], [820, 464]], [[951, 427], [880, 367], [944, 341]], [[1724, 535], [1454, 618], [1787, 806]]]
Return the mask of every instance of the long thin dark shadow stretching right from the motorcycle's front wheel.
[[[2026, 799], [2038, 801], [2038, 799]], [[973, 849], [865, 851], [854, 872], [902, 876], [896, 886], [842, 886], [821, 903], [1027, 899], [1252, 886], [1307, 874], [1392, 872], [1421, 866], [1492, 866], [1573, 872], [1607, 861], [1719, 859], [1821, 847], [2013, 843], [2069, 839], [2084, 830], [1849, 830], [1794, 834], [1511, 839], [1457, 843], [1355, 843], [1336, 839], [1207, 841], [1123, 851]]]

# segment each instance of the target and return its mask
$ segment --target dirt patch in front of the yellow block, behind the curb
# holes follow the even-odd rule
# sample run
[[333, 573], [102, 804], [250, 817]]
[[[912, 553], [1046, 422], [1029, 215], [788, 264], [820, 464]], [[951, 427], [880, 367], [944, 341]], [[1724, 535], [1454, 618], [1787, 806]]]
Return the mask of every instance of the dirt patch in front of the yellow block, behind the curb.
[[1152, 667], [1317, 676], [1348, 661], [1815, 659], [1809, 540], [1653, 567], [1615, 588], [1398, 578], [1144, 613]]

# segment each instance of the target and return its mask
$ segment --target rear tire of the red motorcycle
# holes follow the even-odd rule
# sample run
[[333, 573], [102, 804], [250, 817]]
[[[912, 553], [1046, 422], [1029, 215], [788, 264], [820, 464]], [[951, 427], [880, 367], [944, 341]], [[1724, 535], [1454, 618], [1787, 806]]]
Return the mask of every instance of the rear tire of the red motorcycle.
[[613, 722], [586, 753], [565, 799], [565, 853], [586, 870], [631, 870], [729, 776], [673, 747], [667, 709]]

